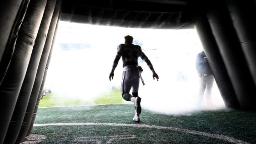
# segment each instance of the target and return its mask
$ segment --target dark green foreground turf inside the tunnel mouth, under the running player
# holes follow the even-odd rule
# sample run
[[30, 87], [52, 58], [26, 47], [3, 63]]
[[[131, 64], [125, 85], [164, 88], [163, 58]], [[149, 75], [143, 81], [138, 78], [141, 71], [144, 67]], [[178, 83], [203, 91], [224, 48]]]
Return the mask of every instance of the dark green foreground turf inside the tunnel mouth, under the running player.
[[[197, 111], [189, 115], [166, 115], [143, 110], [140, 123], [134, 122], [133, 116], [134, 108], [131, 104], [39, 108], [31, 134], [46, 136], [40, 142], [45, 144], [231, 143], [201, 134], [165, 129], [171, 127], [223, 135], [241, 140], [242, 143], [256, 143], [256, 112], [225, 109]], [[37, 126], [37, 124], [49, 123], [94, 124]], [[104, 125], [106, 123], [112, 125]], [[128, 124], [128, 126], [118, 124]], [[136, 127], [137, 125], [142, 127]], [[149, 126], [161, 126], [164, 129]]]

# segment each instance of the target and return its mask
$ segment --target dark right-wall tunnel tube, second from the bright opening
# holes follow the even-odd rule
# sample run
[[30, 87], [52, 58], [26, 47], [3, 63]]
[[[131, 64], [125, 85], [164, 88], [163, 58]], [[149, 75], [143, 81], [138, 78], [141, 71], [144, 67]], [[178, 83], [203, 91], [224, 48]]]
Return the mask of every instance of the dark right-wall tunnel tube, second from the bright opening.
[[228, 10], [218, 2], [210, 6], [207, 17], [239, 104], [242, 109], [255, 110], [256, 88]]

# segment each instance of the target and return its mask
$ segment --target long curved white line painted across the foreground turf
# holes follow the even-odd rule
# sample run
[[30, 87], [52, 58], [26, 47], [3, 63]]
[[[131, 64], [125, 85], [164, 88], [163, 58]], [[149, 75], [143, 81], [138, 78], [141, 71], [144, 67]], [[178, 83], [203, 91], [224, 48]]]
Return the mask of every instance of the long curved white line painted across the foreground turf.
[[175, 127], [163, 127], [163, 126], [155, 126], [155, 125], [147, 125], [147, 124], [125, 124], [125, 123], [46, 123], [46, 124], [34, 124], [34, 127], [40, 126], [123, 126], [123, 127], [138, 127], [138, 128], [155, 128], [155, 129], [168, 129], [172, 131], [188, 133], [188, 134], [196, 134], [196, 135], [203, 135], [206, 137], [212, 137], [220, 140], [225, 140], [230, 143], [235, 144], [249, 144], [239, 139], [231, 138], [225, 135], [219, 134], [211, 134], [206, 132], [200, 132], [196, 130], [189, 130], [189, 129], [182, 129], [182, 128], [175, 128]]

